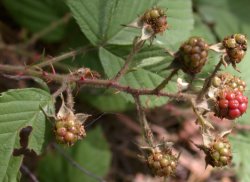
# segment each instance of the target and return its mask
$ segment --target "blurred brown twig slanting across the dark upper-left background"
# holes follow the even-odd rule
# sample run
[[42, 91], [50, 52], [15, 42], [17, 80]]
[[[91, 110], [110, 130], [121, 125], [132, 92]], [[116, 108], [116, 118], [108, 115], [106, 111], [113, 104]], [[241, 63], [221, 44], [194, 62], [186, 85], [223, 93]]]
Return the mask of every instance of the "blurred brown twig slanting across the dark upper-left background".
[[33, 36], [27, 42], [25, 42], [22, 46], [29, 47], [30, 45], [35, 44], [41, 37], [55, 30], [58, 26], [67, 23], [71, 18], [72, 18], [71, 14], [67, 13], [58, 21], [52, 22], [48, 27], [46, 27], [45, 29], [42, 29], [42, 31], [36, 34], [33, 34]]

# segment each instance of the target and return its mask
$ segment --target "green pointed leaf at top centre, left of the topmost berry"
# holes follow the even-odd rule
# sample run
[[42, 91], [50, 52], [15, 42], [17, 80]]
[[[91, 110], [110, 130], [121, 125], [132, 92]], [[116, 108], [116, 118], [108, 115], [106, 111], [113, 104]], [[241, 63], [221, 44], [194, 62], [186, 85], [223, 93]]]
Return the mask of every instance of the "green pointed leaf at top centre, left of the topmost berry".
[[93, 44], [107, 42], [138, 14], [153, 6], [154, 0], [68, 0], [73, 16], [82, 32]]

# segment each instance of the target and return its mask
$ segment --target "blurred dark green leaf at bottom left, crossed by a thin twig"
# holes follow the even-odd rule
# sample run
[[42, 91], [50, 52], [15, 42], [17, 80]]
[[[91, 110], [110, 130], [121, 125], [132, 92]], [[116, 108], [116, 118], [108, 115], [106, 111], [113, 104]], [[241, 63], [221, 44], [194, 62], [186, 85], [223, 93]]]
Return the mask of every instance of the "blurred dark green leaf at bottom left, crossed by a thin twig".
[[[69, 154], [83, 168], [99, 177], [104, 177], [109, 170], [111, 154], [100, 127], [89, 131], [83, 141], [64, 152]], [[46, 182], [96, 181], [77, 168], [72, 167], [69, 161], [55, 152], [49, 153], [39, 162], [38, 170], [40, 180]], [[61, 173], [62, 171], [63, 173]]]

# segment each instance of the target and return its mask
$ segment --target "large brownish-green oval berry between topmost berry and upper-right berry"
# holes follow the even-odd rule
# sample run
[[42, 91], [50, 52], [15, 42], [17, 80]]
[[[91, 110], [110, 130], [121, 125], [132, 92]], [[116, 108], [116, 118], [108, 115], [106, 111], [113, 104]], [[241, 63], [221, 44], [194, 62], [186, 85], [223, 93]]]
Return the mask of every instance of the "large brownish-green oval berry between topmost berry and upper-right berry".
[[187, 74], [199, 73], [208, 57], [208, 44], [200, 37], [184, 42], [177, 54], [180, 68]]

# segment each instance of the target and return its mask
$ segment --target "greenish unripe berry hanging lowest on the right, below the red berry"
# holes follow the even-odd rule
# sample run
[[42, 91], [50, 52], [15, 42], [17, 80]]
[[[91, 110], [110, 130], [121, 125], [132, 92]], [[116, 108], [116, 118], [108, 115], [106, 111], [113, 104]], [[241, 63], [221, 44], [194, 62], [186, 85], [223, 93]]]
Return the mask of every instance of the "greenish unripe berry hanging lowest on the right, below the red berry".
[[223, 167], [232, 161], [232, 151], [229, 141], [224, 137], [217, 137], [206, 148], [206, 162], [213, 167]]

